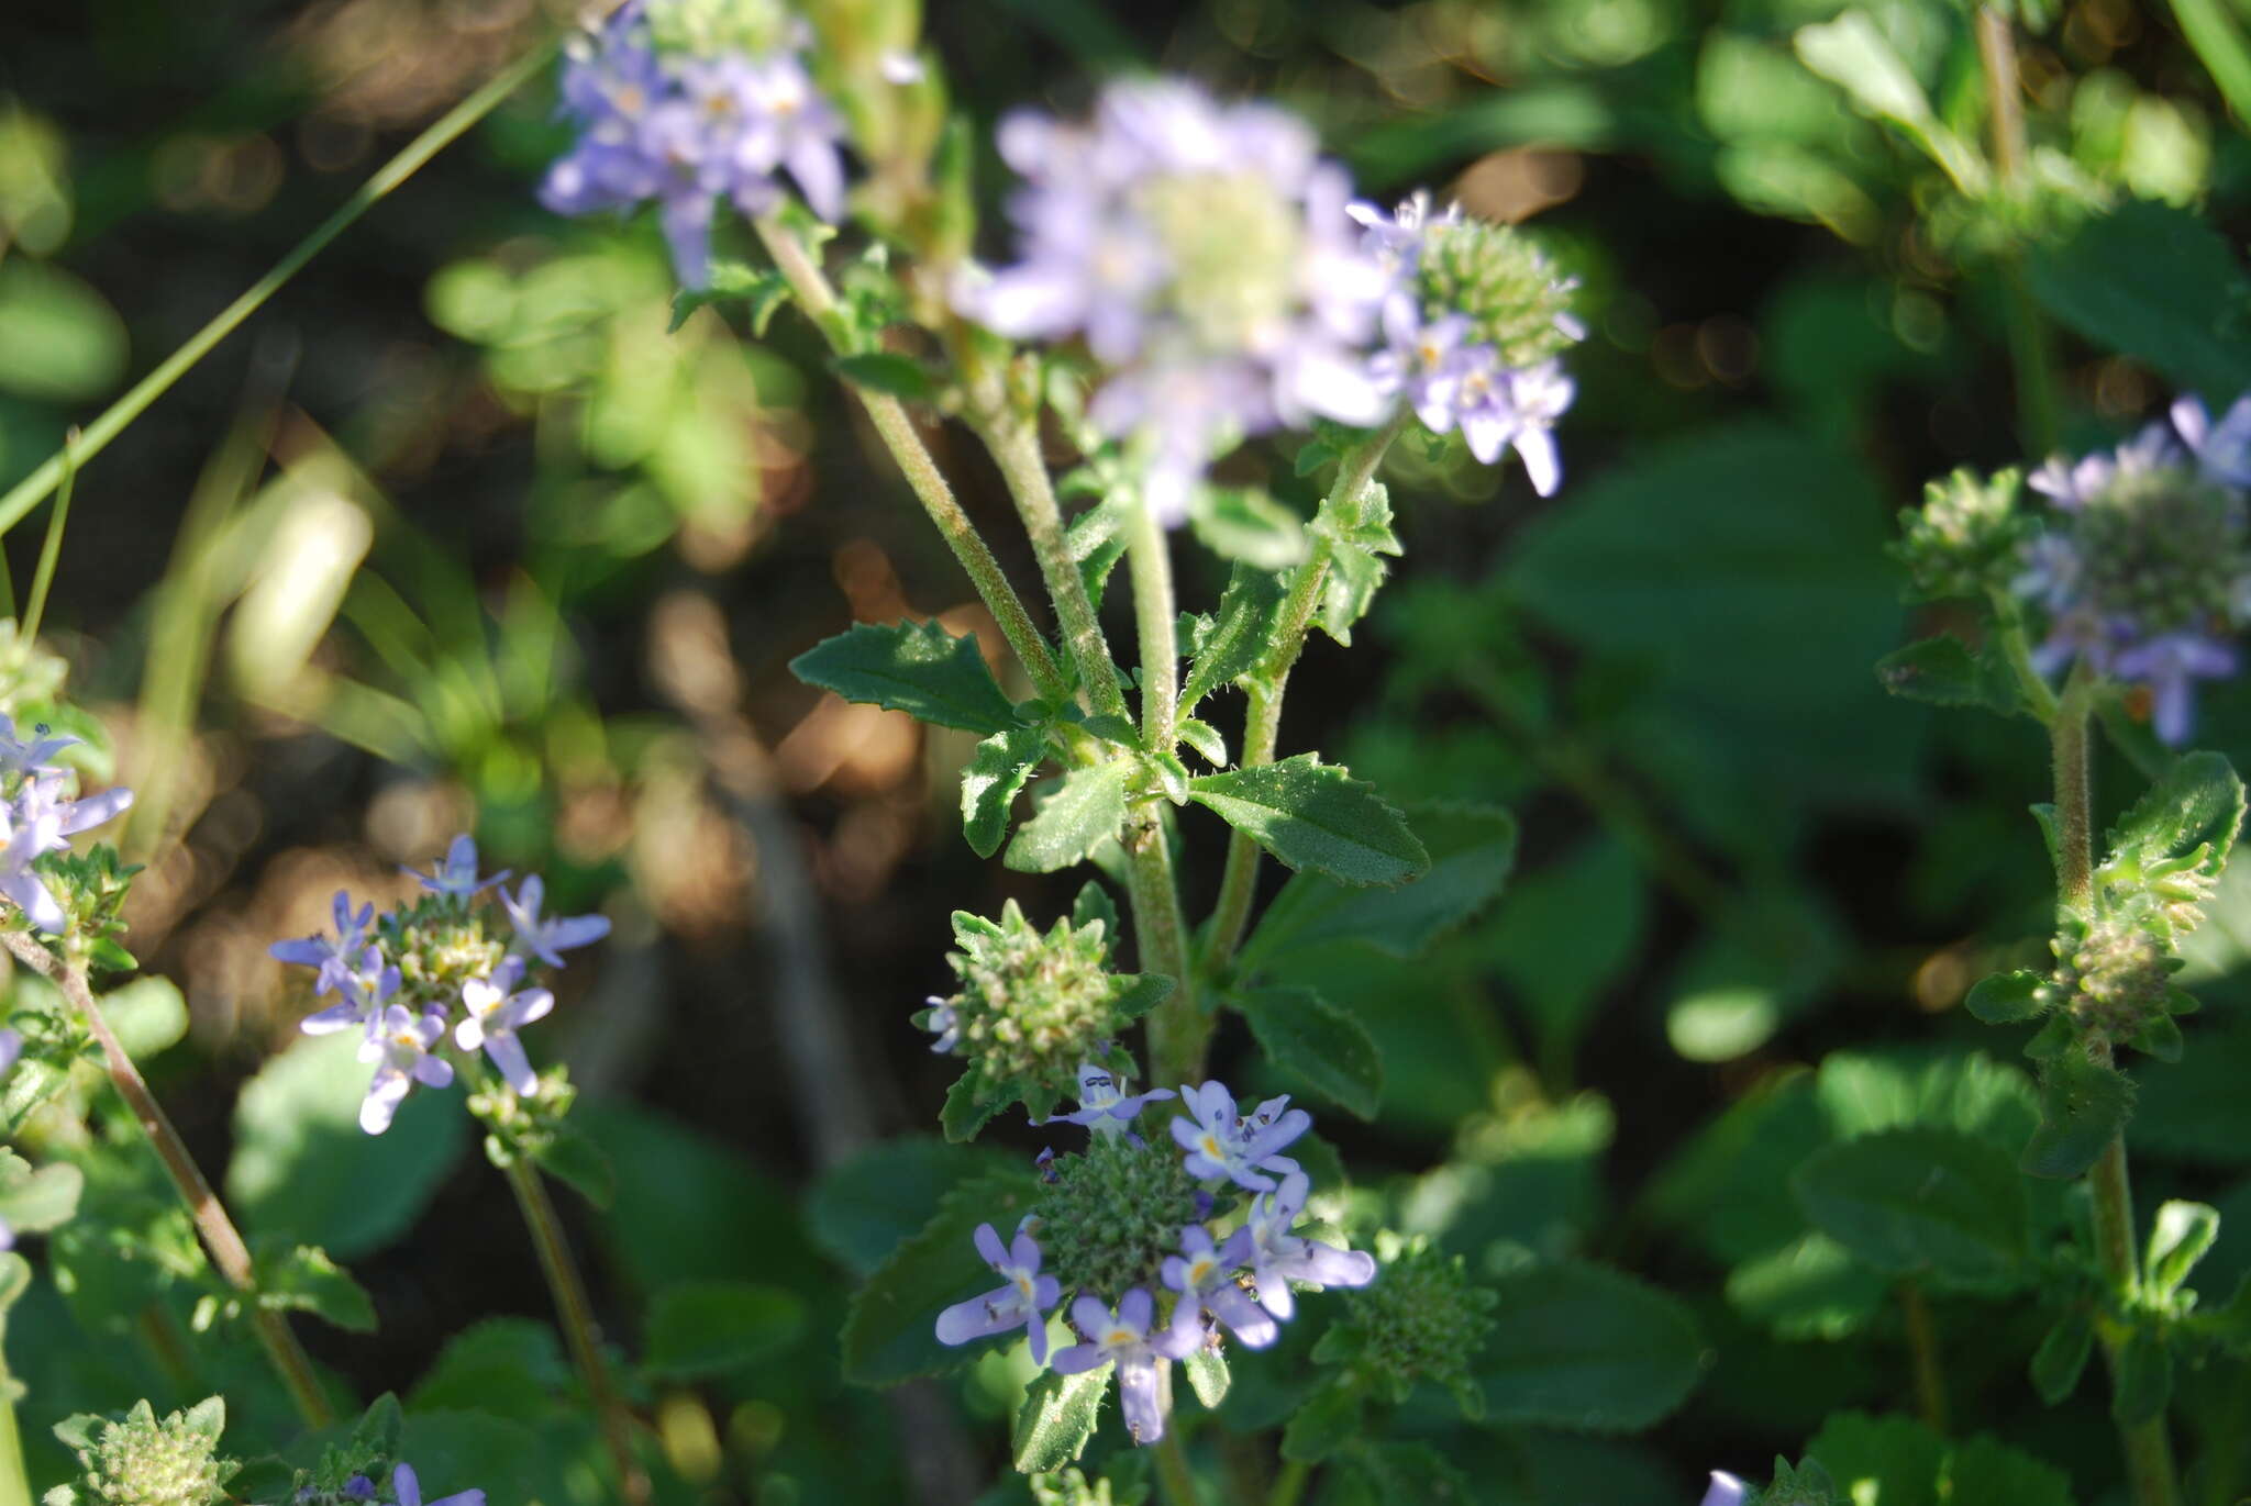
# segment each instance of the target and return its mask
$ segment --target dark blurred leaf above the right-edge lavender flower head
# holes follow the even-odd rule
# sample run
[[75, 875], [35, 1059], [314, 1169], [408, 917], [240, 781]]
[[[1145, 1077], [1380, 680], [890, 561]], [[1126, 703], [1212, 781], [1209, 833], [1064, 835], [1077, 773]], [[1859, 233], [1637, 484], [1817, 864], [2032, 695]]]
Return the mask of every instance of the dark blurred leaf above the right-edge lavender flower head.
[[2127, 198], [2026, 257], [2033, 295], [2093, 344], [2215, 398], [2251, 387], [2251, 281], [2192, 209]]

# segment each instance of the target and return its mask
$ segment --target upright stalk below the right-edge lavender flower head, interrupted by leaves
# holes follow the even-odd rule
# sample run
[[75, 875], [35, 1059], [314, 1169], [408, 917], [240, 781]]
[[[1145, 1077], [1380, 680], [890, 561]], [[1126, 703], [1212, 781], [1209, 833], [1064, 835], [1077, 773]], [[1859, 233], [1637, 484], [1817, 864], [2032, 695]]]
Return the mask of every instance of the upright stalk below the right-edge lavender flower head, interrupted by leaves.
[[[2096, 680], [2084, 664], [2071, 671], [2055, 720], [2048, 723], [2048, 738], [2055, 750], [2055, 887], [2057, 900], [2091, 914], [2093, 907], [2093, 781], [2089, 772], [2089, 714], [2093, 709]], [[2109, 1042], [2089, 1042], [2089, 1056], [2098, 1067], [2111, 1065]], [[2132, 1297], [2141, 1288], [2141, 1261], [2134, 1254], [2134, 1191], [2127, 1180], [2125, 1135], [2114, 1135], [2102, 1155], [2087, 1173], [2087, 1193], [2093, 1202], [2096, 1258], [2102, 1276], [2120, 1297]], [[2116, 1373], [2123, 1339], [2107, 1326], [2102, 1353]], [[2145, 1423], [2118, 1423], [2118, 1443], [2125, 1452], [2127, 1490], [2134, 1506], [2179, 1506], [2179, 1474], [2172, 1468], [2172, 1434], [2165, 1414], [2159, 1411]]]

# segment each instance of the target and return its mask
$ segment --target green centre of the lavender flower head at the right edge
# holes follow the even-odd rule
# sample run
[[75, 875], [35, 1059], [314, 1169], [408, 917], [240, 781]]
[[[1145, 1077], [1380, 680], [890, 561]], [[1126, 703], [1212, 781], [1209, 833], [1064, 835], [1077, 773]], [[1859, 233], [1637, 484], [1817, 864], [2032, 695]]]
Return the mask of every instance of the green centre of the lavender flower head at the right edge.
[[2069, 513], [2084, 597], [2145, 637], [2226, 624], [2235, 583], [2251, 574], [2244, 522], [2242, 497], [2188, 466], [2120, 466]]

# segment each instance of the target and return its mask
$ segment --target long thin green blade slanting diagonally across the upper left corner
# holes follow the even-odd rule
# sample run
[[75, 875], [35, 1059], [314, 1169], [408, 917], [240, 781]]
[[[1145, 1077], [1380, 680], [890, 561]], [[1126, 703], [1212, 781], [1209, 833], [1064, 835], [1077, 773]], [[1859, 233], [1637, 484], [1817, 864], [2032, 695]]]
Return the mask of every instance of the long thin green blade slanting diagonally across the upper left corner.
[[[360, 191], [344, 200], [344, 207], [331, 214], [320, 227], [297, 243], [281, 261], [272, 266], [266, 277], [259, 277], [250, 288], [221, 308], [209, 324], [189, 335], [187, 344], [176, 349], [171, 356], [158, 365], [155, 371], [133, 383], [133, 389], [108, 405], [99, 419], [86, 425], [86, 434], [77, 446], [65, 446], [63, 450], [50, 455], [38, 470], [16, 482], [5, 497], [0, 497], [0, 534], [16, 527], [25, 513], [29, 513], [38, 502], [54, 491], [68, 464], [86, 464], [99, 455], [117, 434], [126, 430], [128, 423], [142, 416], [151, 403], [155, 403], [164, 392], [171, 389], [198, 360], [212, 353], [221, 340], [232, 335], [243, 320], [257, 313], [266, 299], [279, 293], [290, 277], [304, 270], [304, 266], [317, 257], [329, 241], [344, 234], [362, 214], [367, 214], [376, 203], [396, 189], [401, 182], [412, 178], [423, 162], [434, 158], [439, 151], [450, 146], [464, 131], [475, 126], [479, 119], [491, 115], [491, 110], [515, 92], [515, 88], [536, 74], [556, 54], [560, 43], [547, 43], [533, 47], [506, 70], [500, 72], [491, 83], [479, 88], [475, 95], [446, 110], [441, 117], [430, 122], [430, 126], [407, 142], [396, 158], [376, 169], [376, 173], [360, 185]], [[72, 450], [77, 452], [72, 461]]]

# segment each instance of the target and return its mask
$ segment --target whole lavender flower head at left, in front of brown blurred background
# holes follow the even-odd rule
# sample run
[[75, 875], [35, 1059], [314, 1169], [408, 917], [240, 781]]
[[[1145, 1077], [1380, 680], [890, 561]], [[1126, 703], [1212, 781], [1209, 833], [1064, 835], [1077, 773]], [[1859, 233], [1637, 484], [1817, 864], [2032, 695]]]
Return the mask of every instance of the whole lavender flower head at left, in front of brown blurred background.
[[[477, 876], [477, 844], [452, 840], [430, 873], [407, 873], [421, 885], [412, 905], [376, 918], [376, 907], [351, 907], [335, 894], [335, 934], [277, 941], [270, 952], [286, 963], [315, 968], [313, 993], [338, 995], [308, 1015], [306, 1036], [360, 1031], [360, 1060], [374, 1065], [360, 1128], [383, 1135], [414, 1083], [446, 1087], [452, 1063], [443, 1042], [464, 1054], [482, 1051], [518, 1094], [538, 1092], [538, 1076], [518, 1031], [547, 1018], [554, 993], [527, 984], [533, 963], [563, 966], [563, 952], [610, 934], [608, 916], [542, 916], [545, 885], [524, 876], [515, 894], [500, 885], [506, 871]], [[495, 905], [479, 900], [491, 889]], [[495, 936], [509, 930], [509, 941]], [[450, 1029], [448, 1029], [450, 1027]]]

